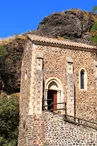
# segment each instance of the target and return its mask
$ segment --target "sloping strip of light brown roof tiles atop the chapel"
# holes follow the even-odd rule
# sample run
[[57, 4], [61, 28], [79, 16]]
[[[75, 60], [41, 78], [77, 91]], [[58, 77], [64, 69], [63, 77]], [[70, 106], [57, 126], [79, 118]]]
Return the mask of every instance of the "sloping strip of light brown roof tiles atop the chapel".
[[62, 46], [71, 46], [71, 47], [79, 47], [79, 48], [86, 48], [86, 49], [97, 49], [96, 46], [84, 44], [84, 43], [78, 43], [73, 42], [69, 40], [58, 40], [54, 38], [48, 38], [48, 37], [41, 37], [37, 35], [27, 34], [27, 36], [33, 41], [37, 43], [48, 43], [48, 44], [55, 44], [55, 45], [62, 45]]

